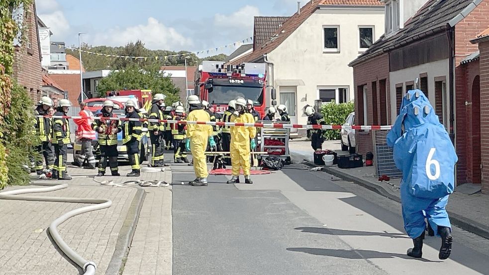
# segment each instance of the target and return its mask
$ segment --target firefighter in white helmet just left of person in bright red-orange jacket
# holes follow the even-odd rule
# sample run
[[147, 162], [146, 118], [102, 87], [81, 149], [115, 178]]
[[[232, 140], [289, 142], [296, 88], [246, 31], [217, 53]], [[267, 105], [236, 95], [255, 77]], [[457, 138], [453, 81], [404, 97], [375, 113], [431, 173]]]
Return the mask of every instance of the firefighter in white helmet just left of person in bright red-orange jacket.
[[[61, 99], [55, 116], [66, 116], [71, 107], [68, 99]], [[53, 143], [56, 160], [54, 162], [53, 179], [71, 180], [71, 176], [66, 171], [67, 144], [71, 144], [70, 123], [66, 118], [55, 118], [53, 120]]]

